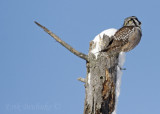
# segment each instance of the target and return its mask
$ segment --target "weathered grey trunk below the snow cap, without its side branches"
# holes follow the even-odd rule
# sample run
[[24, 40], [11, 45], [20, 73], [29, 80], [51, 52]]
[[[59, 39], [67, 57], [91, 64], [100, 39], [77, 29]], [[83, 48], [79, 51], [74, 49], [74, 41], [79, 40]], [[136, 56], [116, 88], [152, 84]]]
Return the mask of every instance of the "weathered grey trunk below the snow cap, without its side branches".
[[92, 43], [88, 54], [84, 114], [111, 114], [115, 109], [119, 54], [99, 52], [96, 58], [91, 52]]

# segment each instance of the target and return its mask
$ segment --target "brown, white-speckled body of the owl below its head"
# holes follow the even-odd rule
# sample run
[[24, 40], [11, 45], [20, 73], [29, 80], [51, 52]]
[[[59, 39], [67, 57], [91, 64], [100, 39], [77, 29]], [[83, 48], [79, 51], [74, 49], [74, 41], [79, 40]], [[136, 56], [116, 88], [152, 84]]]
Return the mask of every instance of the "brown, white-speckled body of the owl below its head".
[[124, 26], [113, 36], [113, 42], [108, 50], [128, 52], [136, 47], [141, 39], [141, 31], [138, 27]]

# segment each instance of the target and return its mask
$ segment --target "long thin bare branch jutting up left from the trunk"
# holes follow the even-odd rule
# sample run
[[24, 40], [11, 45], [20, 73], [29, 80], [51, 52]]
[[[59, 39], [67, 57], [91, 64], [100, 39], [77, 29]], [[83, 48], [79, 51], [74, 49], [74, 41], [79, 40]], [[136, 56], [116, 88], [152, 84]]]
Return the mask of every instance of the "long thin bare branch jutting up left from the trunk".
[[75, 50], [74, 48], [72, 48], [69, 44], [67, 44], [66, 42], [64, 42], [63, 40], [61, 40], [57, 35], [55, 35], [54, 33], [52, 33], [50, 30], [48, 30], [46, 27], [42, 26], [41, 24], [39, 24], [38, 22], [35, 21], [35, 23], [41, 27], [45, 32], [47, 32], [51, 37], [53, 37], [57, 42], [59, 42], [62, 46], [64, 46], [65, 48], [67, 48], [70, 52], [72, 52], [73, 54], [77, 55], [78, 57], [88, 61], [88, 55], [83, 54], [77, 50]]

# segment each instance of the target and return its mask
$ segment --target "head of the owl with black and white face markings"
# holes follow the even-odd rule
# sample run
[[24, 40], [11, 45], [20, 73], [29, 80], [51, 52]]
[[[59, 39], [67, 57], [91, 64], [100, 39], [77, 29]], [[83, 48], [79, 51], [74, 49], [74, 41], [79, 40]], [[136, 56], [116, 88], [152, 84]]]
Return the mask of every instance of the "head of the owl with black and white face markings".
[[124, 20], [123, 26], [141, 27], [141, 22], [138, 20], [137, 17], [131, 16], [131, 17], [127, 17], [127, 18]]

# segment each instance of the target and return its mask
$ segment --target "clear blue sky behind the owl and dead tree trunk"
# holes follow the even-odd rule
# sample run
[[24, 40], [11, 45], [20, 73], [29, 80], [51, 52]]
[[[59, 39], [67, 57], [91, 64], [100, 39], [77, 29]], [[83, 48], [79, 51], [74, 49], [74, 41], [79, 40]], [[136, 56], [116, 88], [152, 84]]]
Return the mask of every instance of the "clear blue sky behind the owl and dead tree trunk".
[[126, 56], [117, 114], [159, 114], [159, 0], [0, 0], [0, 14], [1, 114], [83, 113], [85, 61], [35, 20], [87, 54], [98, 33], [132, 15], [143, 36]]

